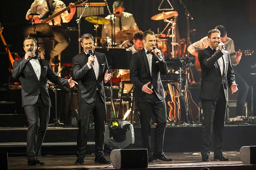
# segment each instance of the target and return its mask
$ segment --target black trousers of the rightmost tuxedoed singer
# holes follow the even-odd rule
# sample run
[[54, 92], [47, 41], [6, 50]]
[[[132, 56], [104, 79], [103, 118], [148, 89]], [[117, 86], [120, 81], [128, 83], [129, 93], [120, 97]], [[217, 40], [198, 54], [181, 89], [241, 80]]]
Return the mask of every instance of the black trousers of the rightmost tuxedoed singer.
[[204, 120], [202, 123], [202, 151], [201, 155], [210, 155], [212, 151], [212, 135], [214, 135], [214, 155], [222, 155], [223, 128], [227, 101], [221, 86], [218, 97], [214, 100], [203, 100], [202, 108]]

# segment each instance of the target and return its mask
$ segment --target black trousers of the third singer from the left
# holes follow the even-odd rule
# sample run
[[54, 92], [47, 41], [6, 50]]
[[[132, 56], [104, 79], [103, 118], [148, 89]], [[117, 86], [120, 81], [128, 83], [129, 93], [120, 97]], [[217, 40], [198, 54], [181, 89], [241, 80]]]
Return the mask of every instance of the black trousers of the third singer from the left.
[[156, 129], [155, 129], [155, 145], [154, 153], [162, 153], [164, 145], [164, 132], [166, 127], [166, 105], [165, 101], [159, 100], [156, 96], [156, 92], [153, 89], [153, 93], [148, 97], [145, 103], [138, 101], [138, 107], [140, 110], [140, 124], [143, 147], [148, 149], [148, 155], [152, 154], [151, 150], [151, 115], [152, 113], [156, 117]]

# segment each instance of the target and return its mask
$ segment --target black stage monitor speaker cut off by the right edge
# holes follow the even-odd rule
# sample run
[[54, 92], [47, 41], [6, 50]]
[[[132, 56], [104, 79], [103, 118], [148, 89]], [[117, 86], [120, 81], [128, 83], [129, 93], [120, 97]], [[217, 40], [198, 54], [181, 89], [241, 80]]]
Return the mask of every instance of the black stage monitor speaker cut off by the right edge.
[[256, 165], [256, 146], [241, 147], [240, 159], [244, 165]]

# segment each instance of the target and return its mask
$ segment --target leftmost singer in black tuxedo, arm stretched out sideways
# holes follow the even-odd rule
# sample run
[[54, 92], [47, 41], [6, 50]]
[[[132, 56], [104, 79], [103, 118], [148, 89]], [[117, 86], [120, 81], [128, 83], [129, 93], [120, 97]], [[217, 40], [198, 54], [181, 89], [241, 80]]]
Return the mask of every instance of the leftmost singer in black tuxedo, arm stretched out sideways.
[[13, 62], [12, 77], [21, 82], [22, 107], [28, 119], [27, 158], [29, 166], [45, 165], [37, 157], [44, 140], [50, 118], [51, 101], [47, 89], [47, 79], [67, 87], [74, 87], [72, 77], [64, 79], [52, 71], [49, 62], [39, 59], [36, 54], [36, 40], [27, 37], [23, 41], [26, 52], [24, 58]]

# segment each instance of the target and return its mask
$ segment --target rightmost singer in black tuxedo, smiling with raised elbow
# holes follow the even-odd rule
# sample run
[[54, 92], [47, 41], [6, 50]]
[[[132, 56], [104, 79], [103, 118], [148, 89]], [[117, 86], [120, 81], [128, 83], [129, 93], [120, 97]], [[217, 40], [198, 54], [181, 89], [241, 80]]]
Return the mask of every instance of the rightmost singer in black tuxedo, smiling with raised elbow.
[[212, 135], [214, 133], [214, 160], [229, 161], [222, 154], [223, 128], [228, 102], [228, 89], [232, 94], [237, 89], [235, 73], [230, 63], [228, 51], [220, 42], [220, 31], [213, 29], [208, 32], [208, 48], [199, 52], [202, 70], [200, 98], [204, 120], [202, 123], [202, 161], [210, 162]]

